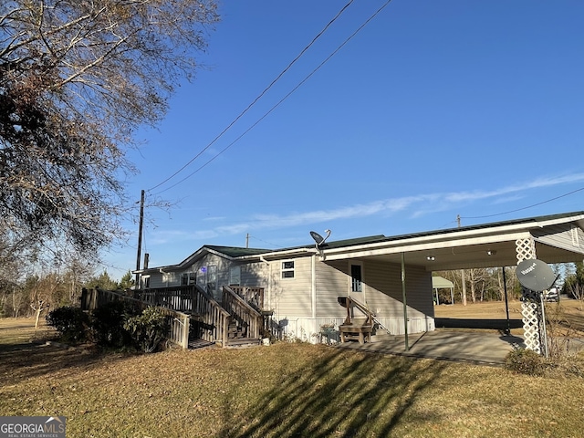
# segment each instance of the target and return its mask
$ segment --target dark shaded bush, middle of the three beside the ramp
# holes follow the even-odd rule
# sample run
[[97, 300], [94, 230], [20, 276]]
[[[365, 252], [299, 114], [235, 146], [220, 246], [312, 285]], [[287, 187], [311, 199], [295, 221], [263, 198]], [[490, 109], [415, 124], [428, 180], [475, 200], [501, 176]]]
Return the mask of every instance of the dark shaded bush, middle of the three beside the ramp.
[[132, 308], [122, 301], [111, 301], [91, 313], [94, 340], [101, 346], [120, 348], [131, 345], [130, 333], [124, 322], [133, 314]]

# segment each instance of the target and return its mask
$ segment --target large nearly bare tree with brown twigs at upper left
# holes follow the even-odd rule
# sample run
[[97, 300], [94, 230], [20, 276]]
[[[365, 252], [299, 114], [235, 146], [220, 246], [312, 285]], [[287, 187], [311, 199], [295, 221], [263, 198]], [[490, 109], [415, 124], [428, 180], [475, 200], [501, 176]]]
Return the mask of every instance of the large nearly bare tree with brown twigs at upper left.
[[0, 237], [93, 253], [121, 235], [125, 151], [217, 21], [212, 0], [0, 2]]

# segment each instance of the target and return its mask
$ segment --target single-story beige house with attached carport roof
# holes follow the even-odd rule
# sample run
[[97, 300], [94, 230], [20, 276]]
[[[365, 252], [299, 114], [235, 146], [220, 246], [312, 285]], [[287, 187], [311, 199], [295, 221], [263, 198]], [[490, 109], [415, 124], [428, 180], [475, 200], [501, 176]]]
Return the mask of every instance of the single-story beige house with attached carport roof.
[[141, 289], [196, 284], [218, 301], [223, 286], [263, 287], [264, 309], [283, 333], [316, 341], [323, 327], [345, 320], [339, 297], [361, 303], [391, 334], [431, 331], [433, 271], [583, 257], [584, 212], [577, 212], [280, 250], [203, 245], [177, 265], [135, 274]]

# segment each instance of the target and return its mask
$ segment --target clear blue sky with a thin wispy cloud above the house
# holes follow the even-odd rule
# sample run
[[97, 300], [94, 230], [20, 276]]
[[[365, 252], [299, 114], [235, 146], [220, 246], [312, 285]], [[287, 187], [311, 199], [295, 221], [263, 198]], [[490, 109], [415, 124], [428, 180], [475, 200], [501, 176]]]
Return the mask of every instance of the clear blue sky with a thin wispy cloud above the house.
[[[580, 1], [393, 0], [347, 41], [386, 4], [356, 0], [214, 141], [348, 3], [220, 4], [197, 77], [129, 154], [150, 266], [247, 234], [276, 249], [310, 230], [340, 240], [584, 210]], [[104, 255], [113, 276], [136, 264], [128, 228]]]

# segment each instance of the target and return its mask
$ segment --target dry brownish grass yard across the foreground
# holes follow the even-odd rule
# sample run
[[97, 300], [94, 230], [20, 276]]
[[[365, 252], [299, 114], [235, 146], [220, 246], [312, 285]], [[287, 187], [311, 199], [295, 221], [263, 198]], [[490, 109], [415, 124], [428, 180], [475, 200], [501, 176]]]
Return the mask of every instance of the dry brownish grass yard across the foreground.
[[[101, 355], [0, 319], [2, 415], [72, 437], [576, 437], [584, 379], [324, 345]], [[32, 342], [31, 342], [32, 341]]]

